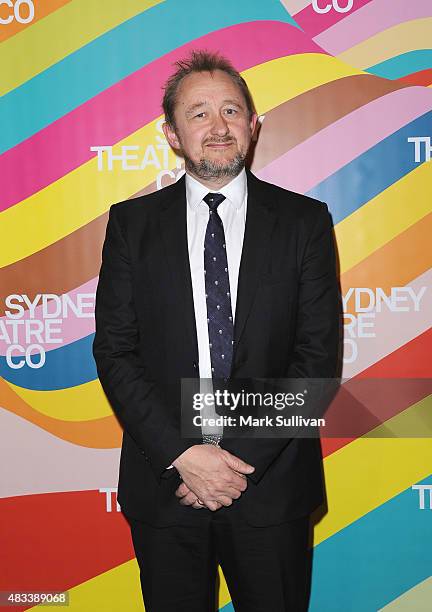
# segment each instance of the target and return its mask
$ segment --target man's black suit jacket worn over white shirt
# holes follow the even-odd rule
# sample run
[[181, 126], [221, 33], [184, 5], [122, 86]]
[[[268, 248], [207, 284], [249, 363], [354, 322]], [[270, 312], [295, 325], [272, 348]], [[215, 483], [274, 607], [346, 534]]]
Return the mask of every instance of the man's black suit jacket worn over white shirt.
[[[327, 207], [249, 171], [247, 181], [231, 377], [332, 377], [339, 298]], [[93, 354], [124, 427], [123, 512], [161, 526], [203, 520], [210, 511], [181, 506], [180, 477], [166, 471], [198, 442], [180, 436], [180, 380], [198, 377], [184, 177], [111, 206]], [[218, 512], [269, 525], [322, 502], [319, 440], [232, 438], [221, 446], [256, 469], [241, 498]]]

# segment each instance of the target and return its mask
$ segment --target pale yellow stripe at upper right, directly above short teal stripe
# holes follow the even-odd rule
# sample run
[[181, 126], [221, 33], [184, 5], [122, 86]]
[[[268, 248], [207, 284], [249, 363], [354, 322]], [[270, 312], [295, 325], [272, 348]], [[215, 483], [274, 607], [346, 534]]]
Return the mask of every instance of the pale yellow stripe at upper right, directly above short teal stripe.
[[384, 30], [338, 55], [339, 59], [368, 68], [391, 57], [416, 49], [430, 49], [432, 41], [432, 17], [415, 19]]

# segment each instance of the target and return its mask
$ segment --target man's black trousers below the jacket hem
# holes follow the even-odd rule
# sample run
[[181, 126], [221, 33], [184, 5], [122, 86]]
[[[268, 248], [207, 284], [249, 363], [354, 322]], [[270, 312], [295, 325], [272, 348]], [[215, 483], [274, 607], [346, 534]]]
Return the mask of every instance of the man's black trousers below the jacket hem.
[[215, 612], [217, 566], [236, 612], [306, 612], [312, 548], [309, 517], [252, 527], [227, 512], [196, 527], [131, 526], [146, 612]]

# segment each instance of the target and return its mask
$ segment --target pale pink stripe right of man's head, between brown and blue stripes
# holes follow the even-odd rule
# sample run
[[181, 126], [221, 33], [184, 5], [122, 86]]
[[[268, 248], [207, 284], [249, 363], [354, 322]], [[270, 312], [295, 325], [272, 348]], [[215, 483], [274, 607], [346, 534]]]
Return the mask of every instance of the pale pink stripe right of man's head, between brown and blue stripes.
[[257, 175], [305, 193], [431, 108], [432, 92], [425, 87], [393, 91], [314, 134]]

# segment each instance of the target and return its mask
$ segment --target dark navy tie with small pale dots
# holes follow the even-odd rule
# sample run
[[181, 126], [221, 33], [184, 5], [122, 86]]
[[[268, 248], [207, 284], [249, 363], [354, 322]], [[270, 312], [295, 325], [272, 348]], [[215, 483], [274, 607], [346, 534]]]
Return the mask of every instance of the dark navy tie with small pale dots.
[[217, 207], [221, 193], [208, 193], [204, 202], [210, 216], [204, 241], [204, 276], [212, 378], [228, 378], [233, 355], [233, 317], [225, 232]]

